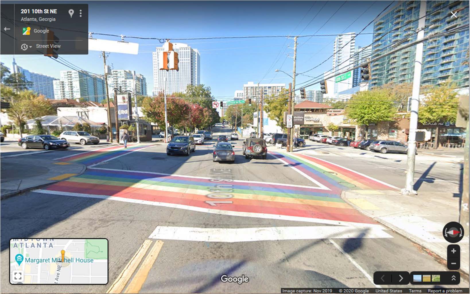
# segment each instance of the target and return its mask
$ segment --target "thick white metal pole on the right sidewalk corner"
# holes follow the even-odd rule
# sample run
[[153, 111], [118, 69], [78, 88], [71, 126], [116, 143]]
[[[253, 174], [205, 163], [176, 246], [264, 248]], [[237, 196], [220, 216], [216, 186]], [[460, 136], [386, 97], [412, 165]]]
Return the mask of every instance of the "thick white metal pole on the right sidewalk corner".
[[[424, 38], [424, 21], [426, 16], [426, 1], [420, 1], [418, 36], [417, 41]], [[418, 109], [419, 109], [419, 88], [421, 84], [421, 67], [423, 61], [423, 42], [416, 44], [415, 55], [415, 73], [413, 77], [413, 93], [411, 97], [411, 114], [408, 136], [408, 153], [407, 153], [407, 173], [405, 188], [401, 189], [403, 195], [417, 194], [413, 190], [415, 185], [415, 152], [416, 152], [416, 129], [418, 127]]]

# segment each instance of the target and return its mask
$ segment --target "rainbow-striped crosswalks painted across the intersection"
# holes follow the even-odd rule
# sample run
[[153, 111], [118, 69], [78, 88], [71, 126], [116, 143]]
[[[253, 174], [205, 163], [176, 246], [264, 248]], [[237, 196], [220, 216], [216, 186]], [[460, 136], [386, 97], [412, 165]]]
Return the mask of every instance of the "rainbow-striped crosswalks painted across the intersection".
[[[62, 160], [80, 162], [88, 166], [125, 155], [125, 152], [145, 147], [134, 145], [128, 149], [109, 147], [99, 152], [73, 155]], [[269, 152], [287, 163], [315, 186], [233, 180], [232, 197], [214, 199], [211, 188], [218, 183], [211, 178], [190, 177], [156, 172], [88, 168], [80, 176], [55, 183], [39, 192], [60, 195], [94, 197], [158, 206], [174, 207], [210, 213], [251, 217], [318, 221], [320, 223], [370, 224], [376, 222], [353, 209], [340, 197], [348, 189], [393, 189], [384, 182], [362, 175], [337, 164], [300, 153]], [[86, 188], [84, 188], [86, 187]], [[217, 204], [211, 201], [223, 200]], [[287, 218], [286, 218], [287, 217]]]

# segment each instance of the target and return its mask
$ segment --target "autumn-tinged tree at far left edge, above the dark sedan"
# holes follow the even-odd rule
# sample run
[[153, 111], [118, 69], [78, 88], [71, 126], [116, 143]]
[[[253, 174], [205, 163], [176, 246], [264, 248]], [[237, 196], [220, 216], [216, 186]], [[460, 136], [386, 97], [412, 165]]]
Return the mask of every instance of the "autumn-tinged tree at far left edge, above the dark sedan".
[[10, 108], [2, 109], [8, 117], [19, 126], [19, 134], [22, 136], [26, 120], [40, 116], [54, 115], [54, 108], [43, 95], [37, 95], [32, 91], [20, 91], [16, 93], [11, 87], [0, 87], [0, 95], [10, 103]]

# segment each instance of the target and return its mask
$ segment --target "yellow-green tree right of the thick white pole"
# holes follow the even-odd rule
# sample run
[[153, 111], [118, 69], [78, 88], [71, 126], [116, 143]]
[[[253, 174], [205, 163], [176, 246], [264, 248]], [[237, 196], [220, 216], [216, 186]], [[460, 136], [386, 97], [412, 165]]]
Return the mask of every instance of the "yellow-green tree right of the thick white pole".
[[433, 87], [425, 96], [419, 107], [418, 121], [424, 123], [437, 123], [434, 148], [439, 146], [439, 123], [455, 123], [459, 99], [455, 86], [446, 81]]

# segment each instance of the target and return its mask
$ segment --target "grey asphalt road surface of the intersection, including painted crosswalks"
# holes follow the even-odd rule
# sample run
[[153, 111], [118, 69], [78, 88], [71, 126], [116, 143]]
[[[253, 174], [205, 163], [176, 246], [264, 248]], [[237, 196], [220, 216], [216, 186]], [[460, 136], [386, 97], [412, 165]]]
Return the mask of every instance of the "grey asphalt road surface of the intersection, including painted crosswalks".
[[[213, 131], [231, 133], [227, 128]], [[31, 154], [21, 156], [31, 162], [74, 161], [88, 169], [1, 201], [0, 291], [105, 293], [146, 240], [161, 240], [163, 246], [138, 285], [140, 293], [377, 287], [375, 271], [447, 271], [422, 248], [339, 197], [345, 189], [402, 186], [406, 155], [366, 158], [359, 150], [307, 142], [305, 148], [315, 153], [315, 160], [288, 156], [274, 146], [268, 147], [266, 160], [245, 159], [240, 139], [233, 141], [235, 163], [223, 163], [212, 162], [213, 144], [206, 141], [189, 156], [167, 156], [163, 143], [106, 155], [92, 147], [34, 154], [28, 150]], [[420, 189], [458, 192], [458, 162], [423, 158], [416, 168], [417, 177], [423, 178]], [[228, 190], [216, 191], [224, 188]], [[109, 282], [11, 285], [10, 238], [107, 238]], [[244, 275], [249, 281], [223, 283], [224, 274]], [[130, 277], [128, 285], [137, 278]], [[458, 286], [468, 287], [468, 280]]]

